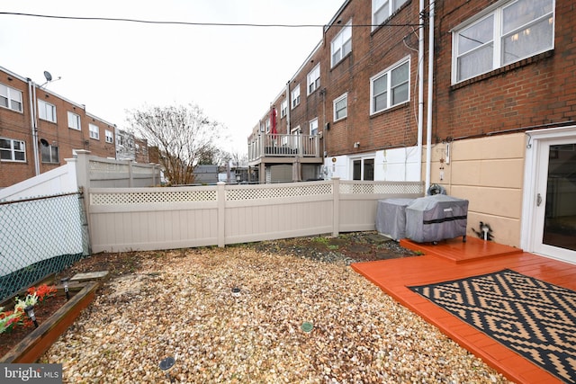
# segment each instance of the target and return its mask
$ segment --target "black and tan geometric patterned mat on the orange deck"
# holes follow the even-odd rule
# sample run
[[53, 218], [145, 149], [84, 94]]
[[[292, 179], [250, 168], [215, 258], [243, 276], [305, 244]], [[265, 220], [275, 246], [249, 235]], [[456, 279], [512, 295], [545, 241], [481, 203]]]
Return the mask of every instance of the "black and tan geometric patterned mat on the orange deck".
[[576, 292], [503, 270], [408, 287], [500, 344], [576, 383]]

